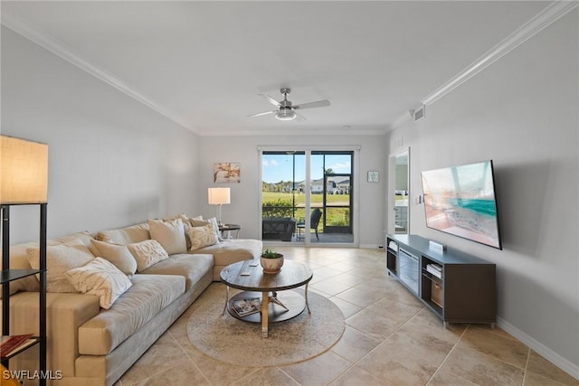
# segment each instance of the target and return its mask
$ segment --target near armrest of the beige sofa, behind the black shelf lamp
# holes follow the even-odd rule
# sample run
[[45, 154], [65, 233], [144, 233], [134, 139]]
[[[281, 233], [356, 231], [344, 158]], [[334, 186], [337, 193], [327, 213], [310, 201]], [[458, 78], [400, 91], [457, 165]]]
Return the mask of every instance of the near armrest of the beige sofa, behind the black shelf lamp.
[[[38, 334], [38, 292], [19, 292], [10, 297], [11, 334]], [[74, 376], [79, 356], [79, 327], [100, 312], [99, 297], [82, 294], [46, 294], [46, 366]], [[37, 350], [29, 350], [10, 360], [11, 367], [26, 369], [38, 363]], [[14, 365], [13, 365], [14, 363]], [[22, 367], [21, 367], [22, 366]]]

